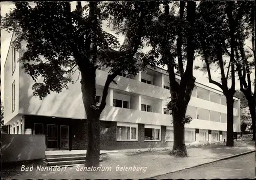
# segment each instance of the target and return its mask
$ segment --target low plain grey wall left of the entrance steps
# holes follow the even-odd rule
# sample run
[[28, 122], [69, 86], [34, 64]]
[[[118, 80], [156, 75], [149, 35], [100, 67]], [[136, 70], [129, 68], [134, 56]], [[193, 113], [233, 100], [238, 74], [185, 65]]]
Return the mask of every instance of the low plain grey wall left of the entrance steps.
[[45, 135], [2, 134], [2, 162], [45, 158]]

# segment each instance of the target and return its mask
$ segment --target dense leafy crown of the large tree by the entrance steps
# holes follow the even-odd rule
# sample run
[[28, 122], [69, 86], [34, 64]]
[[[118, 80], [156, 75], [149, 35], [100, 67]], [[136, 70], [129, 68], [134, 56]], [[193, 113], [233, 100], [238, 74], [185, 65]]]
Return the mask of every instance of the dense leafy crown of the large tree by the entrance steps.
[[[19, 61], [35, 81], [34, 95], [42, 99], [68, 88], [77, 69], [136, 74], [144, 67], [143, 54], [137, 52], [143, 30], [157, 15], [158, 6], [157, 2], [90, 2], [71, 11], [68, 2], [35, 2], [34, 7], [17, 2], [3, 18], [1, 29], [13, 31], [13, 47], [22, 51]], [[103, 30], [104, 21], [124, 35], [122, 46]]]

